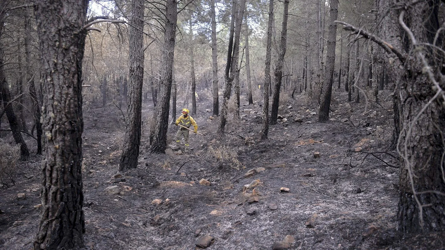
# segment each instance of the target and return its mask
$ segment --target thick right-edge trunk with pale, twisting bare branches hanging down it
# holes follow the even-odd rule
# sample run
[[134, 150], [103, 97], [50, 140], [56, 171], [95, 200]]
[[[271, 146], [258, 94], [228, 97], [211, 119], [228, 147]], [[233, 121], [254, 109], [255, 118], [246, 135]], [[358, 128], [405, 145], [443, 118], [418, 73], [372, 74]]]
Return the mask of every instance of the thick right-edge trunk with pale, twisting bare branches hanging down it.
[[[409, 46], [405, 47], [414, 51], [396, 85], [401, 125], [397, 144], [401, 156], [398, 218], [405, 232], [445, 230], [445, 84], [443, 65], [437, 63], [444, 55], [419, 44], [433, 44], [439, 28], [439, 5], [439, 0], [425, 0], [411, 6], [406, 18], [404, 10], [392, 16], [399, 20], [397, 27], [408, 34]], [[387, 25], [394, 29], [389, 27], [391, 23]]]

